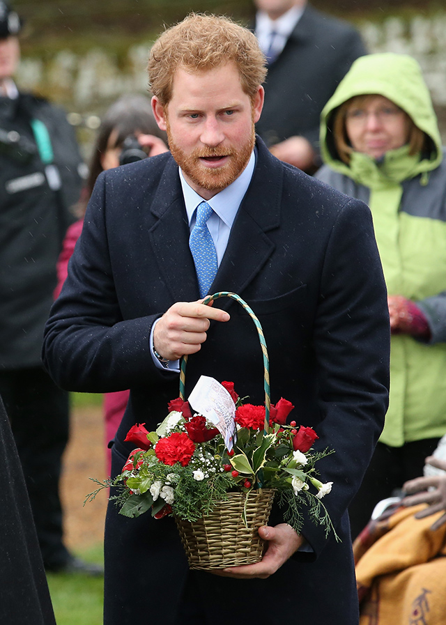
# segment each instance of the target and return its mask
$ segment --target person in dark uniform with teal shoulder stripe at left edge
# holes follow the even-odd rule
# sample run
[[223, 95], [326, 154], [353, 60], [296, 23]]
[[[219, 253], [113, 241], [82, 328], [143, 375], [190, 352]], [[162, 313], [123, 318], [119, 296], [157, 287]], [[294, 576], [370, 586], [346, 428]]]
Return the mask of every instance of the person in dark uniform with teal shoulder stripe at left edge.
[[22, 22], [0, 0], [0, 394], [8, 412], [43, 562], [48, 571], [96, 573], [63, 544], [59, 498], [68, 442], [68, 394], [40, 362], [43, 326], [82, 160], [61, 109], [18, 91]]

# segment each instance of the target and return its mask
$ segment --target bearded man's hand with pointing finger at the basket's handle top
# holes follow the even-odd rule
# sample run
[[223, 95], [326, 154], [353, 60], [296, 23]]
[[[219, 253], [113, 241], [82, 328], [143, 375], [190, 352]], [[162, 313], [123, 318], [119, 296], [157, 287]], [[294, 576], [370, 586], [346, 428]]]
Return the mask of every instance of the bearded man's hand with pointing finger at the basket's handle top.
[[197, 353], [206, 341], [210, 320], [229, 321], [227, 312], [201, 302], [176, 302], [157, 322], [153, 346], [163, 358], [178, 360]]

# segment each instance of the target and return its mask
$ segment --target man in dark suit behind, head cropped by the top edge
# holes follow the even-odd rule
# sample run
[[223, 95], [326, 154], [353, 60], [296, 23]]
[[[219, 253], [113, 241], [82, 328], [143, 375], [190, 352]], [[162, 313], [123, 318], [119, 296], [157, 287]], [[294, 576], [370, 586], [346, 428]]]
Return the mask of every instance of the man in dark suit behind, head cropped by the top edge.
[[254, 0], [255, 33], [268, 59], [265, 105], [256, 131], [280, 160], [308, 173], [321, 164], [319, 116], [358, 56], [362, 39], [306, 0]]

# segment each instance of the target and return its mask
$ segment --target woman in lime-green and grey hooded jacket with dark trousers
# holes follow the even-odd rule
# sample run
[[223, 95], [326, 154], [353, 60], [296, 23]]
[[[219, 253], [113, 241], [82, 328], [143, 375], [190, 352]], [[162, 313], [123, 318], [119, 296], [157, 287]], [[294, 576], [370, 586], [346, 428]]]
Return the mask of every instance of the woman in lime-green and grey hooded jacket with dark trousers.
[[316, 176], [370, 206], [392, 332], [385, 427], [350, 508], [356, 537], [446, 432], [446, 162], [417, 61], [357, 59], [321, 114], [321, 154]]

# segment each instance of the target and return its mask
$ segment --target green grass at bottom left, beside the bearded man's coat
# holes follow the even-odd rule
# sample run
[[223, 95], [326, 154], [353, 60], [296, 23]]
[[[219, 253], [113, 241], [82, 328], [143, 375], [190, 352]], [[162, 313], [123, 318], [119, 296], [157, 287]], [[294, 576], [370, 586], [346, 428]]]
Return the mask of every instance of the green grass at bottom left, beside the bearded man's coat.
[[[102, 544], [77, 554], [88, 562], [103, 562]], [[104, 579], [79, 574], [47, 574], [57, 625], [101, 625]]]

